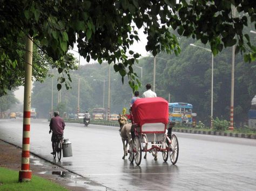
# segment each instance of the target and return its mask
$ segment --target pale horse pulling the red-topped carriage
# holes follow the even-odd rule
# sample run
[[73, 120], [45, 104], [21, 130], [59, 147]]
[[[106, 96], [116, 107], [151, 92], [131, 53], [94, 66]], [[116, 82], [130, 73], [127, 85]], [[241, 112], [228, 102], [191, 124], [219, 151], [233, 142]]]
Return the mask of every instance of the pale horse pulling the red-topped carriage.
[[132, 123], [127, 123], [127, 118], [124, 115], [119, 114], [118, 119], [120, 129], [120, 137], [122, 138], [123, 142], [123, 149], [124, 149], [124, 155], [122, 159], [125, 159], [125, 156], [127, 156], [127, 145], [131, 144], [131, 126]]

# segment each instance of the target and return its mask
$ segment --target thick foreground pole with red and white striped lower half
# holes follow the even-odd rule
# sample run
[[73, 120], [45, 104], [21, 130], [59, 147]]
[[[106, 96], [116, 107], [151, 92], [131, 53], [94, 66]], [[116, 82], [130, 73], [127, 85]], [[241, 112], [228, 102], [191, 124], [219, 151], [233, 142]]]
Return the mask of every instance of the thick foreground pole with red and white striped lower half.
[[24, 107], [23, 107], [23, 138], [22, 138], [22, 165], [19, 171], [19, 182], [30, 181], [32, 171], [29, 165], [30, 146], [30, 108], [32, 86], [32, 51], [33, 43], [30, 36], [26, 37], [25, 54], [25, 84], [24, 84]]

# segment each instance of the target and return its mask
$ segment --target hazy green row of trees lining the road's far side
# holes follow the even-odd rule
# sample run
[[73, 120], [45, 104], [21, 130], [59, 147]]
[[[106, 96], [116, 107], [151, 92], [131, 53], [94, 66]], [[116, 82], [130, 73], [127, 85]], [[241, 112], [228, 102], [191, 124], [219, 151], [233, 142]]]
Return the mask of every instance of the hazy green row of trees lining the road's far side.
[[[256, 39], [253, 34], [251, 38]], [[159, 54], [156, 58], [156, 93], [166, 100], [170, 94], [170, 102], [193, 104], [198, 120], [208, 124], [211, 114], [211, 53], [190, 46], [191, 43], [202, 46], [199, 41], [195, 43], [193, 39], [180, 38], [179, 43], [183, 50], [179, 56]], [[142, 94], [146, 83], [153, 84], [153, 57], [140, 59], [139, 66], [143, 67], [142, 87], [139, 88]], [[103, 105], [102, 81], [108, 80], [108, 69], [109, 66], [104, 63], [102, 66], [92, 64], [83, 65], [78, 71], [71, 73], [72, 89], [61, 90], [61, 107], [65, 111], [76, 113], [78, 77], [80, 77], [80, 111], [103, 106], [107, 108], [108, 82], [105, 82], [105, 105]], [[134, 68], [134, 72], [140, 77], [139, 68]], [[46, 79], [43, 84], [35, 83], [33, 88], [32, 105], [36, 105], [35, 107], [44, 114], [51, 109], [51, 80]], [[234, 120], [237, 124], [247, 121], [250, 102], [256, 94], [255, 81], [255, 63], [244, 63], [240, 54], [235, 56]], [[213, 116], [228, 120], [231, 97], [231, 48], [214, 56], [213, 84]], [[53, 89], [53, 103], [57, 108], [57, 90]], [[111, 112], [119, 113], [123, 107], [128, 108], [131, 97], [132, 89], [126, 82], [122, 85], [118, 73], [113, 73], [111, 70]]]

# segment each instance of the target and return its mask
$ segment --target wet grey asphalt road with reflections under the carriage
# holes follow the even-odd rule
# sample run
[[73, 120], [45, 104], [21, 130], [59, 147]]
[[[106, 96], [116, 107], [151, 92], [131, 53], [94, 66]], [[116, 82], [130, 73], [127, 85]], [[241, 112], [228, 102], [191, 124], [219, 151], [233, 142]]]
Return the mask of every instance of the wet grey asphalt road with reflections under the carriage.
[[[176, 165], [159, 153], [157, 161], [147, 154], [136, 166], [122, 159], [118, 129], [66, 123], [73, 157], [60, 165], [99, 183], [93, 190], [256, 190], [255, 139], [176, 133]], [[0, 138], [22, 146], [22, 118], [0, 119]], [[31, 119], [31, 152], [53, 161], [50, 138], [49, 122]]]

